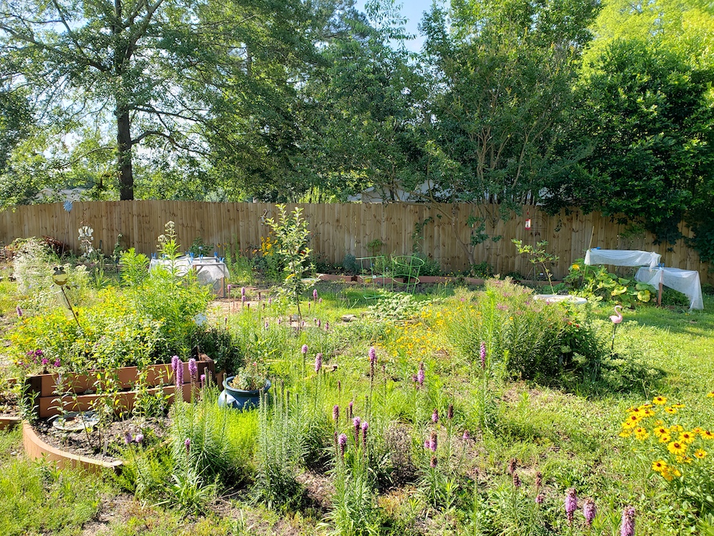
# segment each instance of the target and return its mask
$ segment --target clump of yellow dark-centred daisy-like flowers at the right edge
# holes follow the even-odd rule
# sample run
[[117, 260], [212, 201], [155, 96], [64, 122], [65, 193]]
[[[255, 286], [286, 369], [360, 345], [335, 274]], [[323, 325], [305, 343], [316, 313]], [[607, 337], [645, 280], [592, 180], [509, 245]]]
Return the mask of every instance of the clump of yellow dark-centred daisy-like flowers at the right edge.
[[[714, 392], [707, 396], [714, 398]], [[630, 407], [620, 437], [633, 440], [633, 450], [652, 463], [652, 472], [705, 517], [714, 513], [714, 467], [706, 460], [714, 432], [693, 426], [684, 409], [662, 396]]]

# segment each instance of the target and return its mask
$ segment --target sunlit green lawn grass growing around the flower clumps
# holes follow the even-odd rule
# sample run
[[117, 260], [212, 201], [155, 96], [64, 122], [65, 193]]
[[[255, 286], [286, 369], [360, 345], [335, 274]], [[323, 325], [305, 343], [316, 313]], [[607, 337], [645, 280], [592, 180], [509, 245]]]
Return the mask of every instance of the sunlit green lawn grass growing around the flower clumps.
[[[635, 455], [632, 442], [618, 434], [628, 407], [658, 394], [687, 406], [680, 414], [683, 423], [690, 419], [714, 427], [714, 403], [706, 397], [714, 385], [712, 297], [705, 297], [703, 312], [655, 307], [625, 311], [615, 352], [628, 362], [632, 356], [641, 356], [642, 367], [634, 369], [631, 378], [618, 378], [616, 388], [603, 379], [578, 376], [551, 383], [492, 382], [488, 391], [491, 421], [481, 430], [481, 373], [478, 363], [466, 359], [452, 339], [453, 322], [463, 322], [463, 318], [450, 316], [460, 299], [471, 299], [471, 293], [442, 288], [418, 296], [413, 301], [420, 314], [411, 322], [400, 318], [398, 304], [389, 320], [360, 319], [374, 300], [366, 299], [359, 288], [321, 284], [319, 294], [323, 303], [305, 313], [306, 321], [313, 325], [316, 317], [323, 325], [330, 322], [329, 332], [310, 327], [290, 334], [284, 326], [278, 328], [273, 318], [269, 318], [269, 329], [262, 329], [264, 318], [258, 324], [255, 312], [246, 311], [232, 314], [228, 326], [242, 337], [248, 352], [258, 355], [266, 348], [278, 349], [271, 354], [278, 377], [274, 384], [284, 382], [301, 400], [294, 416], [301, 426], [290, 425], [301, 434], [300, 471], [326, 481], [333, 478], [329, 472], [334, 452], [332, 407], [339, 405], [345, 415], [350, 401], [355, 402], [356, 415], [370, 422], [374, 460], [396, 452], [392, 438], [399, 427], [408, 430], [405, 448], [412, 452], [416, 475], [425, 475], [428, 468], [429, 455], [421, 443], [429, 430], [438, 431], [439, 467], [456, 466], [461, 460], [453, 505], [438, 509], [428, 506], [416, 477], [392, 487], [390, 478], [405, 469], [396, 467], [394, 454], [391, 461], [386, 458], [384, 466], [375, 461], [372, 470], [381, 533], [588, 534], [581, 512], [576, 514], [572, 531], [565, 520], [563, 497], [569, 487], [578, 490], [580, 504], [585, 497], [595, 499], [599, 513], [593, 535], [618, 533], [623, 506], [630, 504], [638, 512], [638, 536], [705, 534], [710, 530], [705, 524], [697, 525], [691, 509], [650, 471], [651, 460]], [[610, 307], [595, 307], [588, 320], [600, 326], [608, 349], [611, 313]], [[343, 314], [355, 314], [358, 319], [338, 325]], [[309, 347], [305, 374], [302, 344]], [[366, 356], [371, 345], [378, 349], [375, 382], [368, 376]], [[317, 352], [324, 354], [327, 371], [319, 375], [313, 372]], [[411, 377], [420, 362], [425, 364], [426, 382], [423, 389], [416, 389]], [[386, 372], [381, 372], [382, 364]], [[333, 365], [337, 365], [336, 372], [331, 372]], [[658, 371], [660, 377], [655, 374]], [[451, 423], [444, 417], [450, 404], [454, 406]], [[431, 423], [435, 407], [441, 416], [436, 427]], [[351, 437], [350, 426], [341, 420], [338, 431]], [[463, 430], [469, 430], [473, 438], [466, 444], [458, 439]], [[81, 534], [98, 515], [102, 500], [120, 493], [119, 486], [114, 481], [97, 481], [24, 460], [13, 454], [21, 450], [18, 433], [0, 433], [0, 501], [8, 505], [0, 512], [0, 534]], [[241, 438], [236, 449], [248, 452], [248, 436], [234, 435]], [[453, 456], [446, 454], [446, 445], [453, 448]], [[522, 482], [516, 491], [507, 472], [512, 459], [517, 460]], [[241, 460], [246, 467], [252, 465]], [[259, 467], [261, 460], [254, 461]], [[536, 472], [543, 474], [545, 493], [545, 502], [538, 509], [533, 502]], [[237, 490], [224, 482], [223, 498], [213, 502], [206, 515], [187, 516], [168, 505], [157, 505], [159, 500], [144, 505], [130, 501], [121, 511], [121, 519], [104, 523], [102, 529], [113, 535], [349, 533], [344, 527], [326, 523], [327, 512], [315, 505], [280, 514], [265, 510], [250, 500], [256, 482], [250, 477], [245, 480]]]

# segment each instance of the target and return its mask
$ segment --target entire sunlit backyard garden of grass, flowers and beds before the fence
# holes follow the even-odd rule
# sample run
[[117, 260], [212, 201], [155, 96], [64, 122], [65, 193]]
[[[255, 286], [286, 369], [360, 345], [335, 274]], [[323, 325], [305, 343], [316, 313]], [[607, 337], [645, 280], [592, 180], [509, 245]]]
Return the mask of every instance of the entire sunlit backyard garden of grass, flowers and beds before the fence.
[[1, 535], [714, 535], [710, 294], [322, 281], [267, 224], [209, 285], [173, 222], [158, 265], [6, 248]]

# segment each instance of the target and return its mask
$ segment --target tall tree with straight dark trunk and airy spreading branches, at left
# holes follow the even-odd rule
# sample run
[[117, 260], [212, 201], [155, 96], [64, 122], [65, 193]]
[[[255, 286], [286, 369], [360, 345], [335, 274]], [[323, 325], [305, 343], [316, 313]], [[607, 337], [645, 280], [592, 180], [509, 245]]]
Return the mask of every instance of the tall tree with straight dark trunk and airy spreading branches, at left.
[[120, 198], [133, 199], [136, 147], [208, 154], [196, 125], [223, 76], [249, 77], [248, 44], [275, 28], [281, 54], [304, 19], [298, 0], [1, 0], [0, 55], [46, 109], [114, 124]]

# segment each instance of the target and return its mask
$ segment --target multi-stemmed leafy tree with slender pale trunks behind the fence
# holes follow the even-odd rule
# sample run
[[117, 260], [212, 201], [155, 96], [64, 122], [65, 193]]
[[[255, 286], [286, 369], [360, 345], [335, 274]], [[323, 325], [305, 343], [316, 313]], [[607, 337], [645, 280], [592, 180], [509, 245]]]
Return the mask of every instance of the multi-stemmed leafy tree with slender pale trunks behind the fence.
[[433, 66], [431, 200], [474, 204], [466, 222], [456, 207], [441, 214], [472, 264], [486, 226], [537, 202], [562, 165], [553, 148], [597, 10], [594, 0], [454, 0], [422, 23]]

